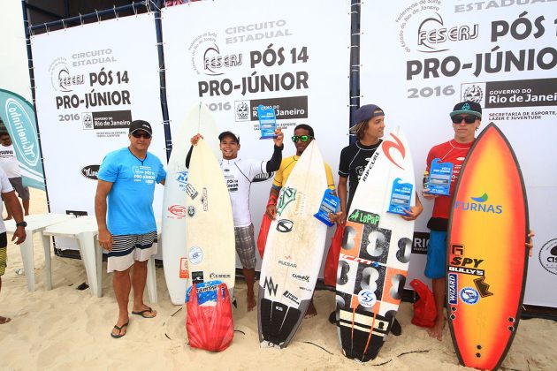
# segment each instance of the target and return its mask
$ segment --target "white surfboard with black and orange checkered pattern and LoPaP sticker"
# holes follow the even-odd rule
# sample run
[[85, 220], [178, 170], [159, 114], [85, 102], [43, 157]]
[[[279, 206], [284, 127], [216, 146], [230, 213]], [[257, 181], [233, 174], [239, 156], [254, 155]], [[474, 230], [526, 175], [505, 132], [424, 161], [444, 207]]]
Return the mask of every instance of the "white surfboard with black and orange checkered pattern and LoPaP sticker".
[[[393, 184], [412, 190], [393, 197]], [[336, 299], [340, 345], [348, 358], [374, 359], [391, 329], [406, 282], [414, 222], [387, 210], [392, 202], [414, 205], [415, 192], [408, 142], [397, 128], [363, 170], [347, 216]]]

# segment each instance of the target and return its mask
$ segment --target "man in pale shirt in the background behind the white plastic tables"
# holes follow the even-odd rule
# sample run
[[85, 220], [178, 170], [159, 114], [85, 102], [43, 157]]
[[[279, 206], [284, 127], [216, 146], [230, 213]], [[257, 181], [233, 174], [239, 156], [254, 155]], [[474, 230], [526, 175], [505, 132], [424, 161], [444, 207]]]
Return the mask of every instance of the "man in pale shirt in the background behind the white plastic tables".
[[[21, 171], [19, 171], [19, 162], [11, 143], [10, 134], [7, 132], [0, 133], [0, 167], [6, 173], [10, 180], [11, 186], [18, 193], [21, 203], [23, 204], [23, 211], [26, 216], [29, 215], [29, 188], [23, 186], [21, 178]], [[4, 220], [11, 219], [11, 209], [6, 205], [6, 212], [8, 216]]]

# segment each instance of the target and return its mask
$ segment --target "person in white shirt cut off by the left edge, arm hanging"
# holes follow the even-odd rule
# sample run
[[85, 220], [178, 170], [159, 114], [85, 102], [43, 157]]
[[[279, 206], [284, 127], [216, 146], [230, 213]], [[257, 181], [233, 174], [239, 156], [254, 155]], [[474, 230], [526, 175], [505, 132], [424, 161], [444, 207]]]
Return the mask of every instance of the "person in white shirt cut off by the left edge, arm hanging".
[[[21, 209], [21, 205], [19, 205], [18, 197], [15, 195], [10, 180], [8, 180], [8, 176], [2, 168], [0, 168], [0, 193], [2, 193], [6, 208], [11, 209], [11, 215], [16, 222], [16, 230], [13, 232], [11, 241], [19, 245], [23, 243], [27, 237], [25, 232], [27, 223], [23, 220], [23, 210]], [[0, 215], [2, 215], [2, 203], [0, 203]], [[4, 276], [6, 270], [7, 248], [8, 239], [6, 237], [6, 227], [2, 218], [0, 218], [0, 290], [2, 289], [2, 276]], [[33, 274], [33, 272], [31, 274]], [[0, 315], [0, 325], [8, 322], [11, 322], [11, 318]]]

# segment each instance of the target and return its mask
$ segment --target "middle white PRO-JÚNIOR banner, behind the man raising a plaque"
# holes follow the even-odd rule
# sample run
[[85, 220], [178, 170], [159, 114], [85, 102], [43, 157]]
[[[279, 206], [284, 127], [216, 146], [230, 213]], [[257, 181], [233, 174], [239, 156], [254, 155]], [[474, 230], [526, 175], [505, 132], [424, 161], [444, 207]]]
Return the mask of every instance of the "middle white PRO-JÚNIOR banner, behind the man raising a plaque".
[[[269, 159], [273, 144], [259, 140], [256, 109], [272, 107], [285, 133], [283, 156], [295, 155], [294, 126], [311, 125], [336, 181], [348, 144], [349, 11], [347, 0], [217, 0], [164, 9], [172, 133], [201, 101], [220, 131], [240, 136], [240, 158]], [[256, 233], [270, 189], [271, 180], [252, 186]]]

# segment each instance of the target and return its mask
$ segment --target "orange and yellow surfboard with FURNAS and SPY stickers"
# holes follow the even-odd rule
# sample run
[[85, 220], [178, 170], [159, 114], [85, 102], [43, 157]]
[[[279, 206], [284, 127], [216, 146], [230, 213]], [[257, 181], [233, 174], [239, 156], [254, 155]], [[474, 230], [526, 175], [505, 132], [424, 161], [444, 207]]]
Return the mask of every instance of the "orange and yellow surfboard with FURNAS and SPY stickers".
[[528, 252], [523, 176], [493, 124], [479, 135], [454, 191], [447, 233], [446, 308], [461, 364], [495, 369], [521, 315]]

